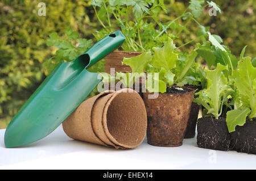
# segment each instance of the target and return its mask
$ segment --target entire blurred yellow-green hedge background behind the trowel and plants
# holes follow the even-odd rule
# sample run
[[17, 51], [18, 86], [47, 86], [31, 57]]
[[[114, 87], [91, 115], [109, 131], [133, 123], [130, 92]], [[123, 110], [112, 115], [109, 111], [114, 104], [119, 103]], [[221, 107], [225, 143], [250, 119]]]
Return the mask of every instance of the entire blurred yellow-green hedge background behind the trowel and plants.
[[[11, 118], [46, 77], [43, 62], [53, 56], [56, 49], [49, 48], [46, 40], [51, 32], [64, 36], [67, 28], [80, 33], [80, 37], [94, 39], [92, 32], [102, 28], [94, 15], [91, 2], [51, 0], [46, 3], [46, 16], [38, 15], [38, 3], [33, 0], [2, 0], [0, 2], [0, 129], [6, 128]], [[168, 14], [159, 19], [172, 20], [180, 15], [188, 1], [164, 1]], [[199, 22], [220, 35], [233, 54], [239, 56], [248, 45], [246, 56], [256, 57], [256, 1], [214, 1], [222, 14], [209, 16], [205, 9]], [[193, 26], [183, 32], [179, 41], [189, 41], [196, 35]], [[179, 44], [180, 42], [176, 42]], [[192, 45], [189, 45], [192, 46]], [[185, 47], [191, 49], [192, 47]]]

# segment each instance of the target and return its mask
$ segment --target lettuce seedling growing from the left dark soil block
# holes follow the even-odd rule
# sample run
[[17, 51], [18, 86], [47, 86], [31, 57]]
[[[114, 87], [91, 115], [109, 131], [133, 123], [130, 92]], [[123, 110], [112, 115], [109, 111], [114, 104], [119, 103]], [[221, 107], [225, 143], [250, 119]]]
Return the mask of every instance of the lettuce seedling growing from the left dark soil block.
[[[238, 60], [225, 45], [221, 45], [220, 36], [208, 32], [209, 41], [203, 45], [197, 44], [197, 53], [207, 62], [205, 70], [207, 87], [197, 93], [197, 104], [204, 107], [203, 116], [226, 117], [226, 111], [232, 110], [235, 96], [232, 76], [237, 67]], [[242, 50], [243, 55], [245, 50]], [[224, 110], [224, 106], [226, 110]]]

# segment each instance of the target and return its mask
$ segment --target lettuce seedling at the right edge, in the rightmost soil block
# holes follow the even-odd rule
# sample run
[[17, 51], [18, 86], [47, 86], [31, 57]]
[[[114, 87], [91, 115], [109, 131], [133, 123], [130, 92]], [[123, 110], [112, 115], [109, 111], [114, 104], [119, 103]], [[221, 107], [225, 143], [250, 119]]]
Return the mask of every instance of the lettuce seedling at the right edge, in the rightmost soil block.
[[235, 131], [237, 125], [242, 126], [246, 117], [256, 117], [256, 68], [253, 67], [250, 57], [243, 58], [238, 62], [238, 70], [233, 74], [236, 95], [234, 99], [234, 110], [226, 114], [226, 123], [229, 132]]

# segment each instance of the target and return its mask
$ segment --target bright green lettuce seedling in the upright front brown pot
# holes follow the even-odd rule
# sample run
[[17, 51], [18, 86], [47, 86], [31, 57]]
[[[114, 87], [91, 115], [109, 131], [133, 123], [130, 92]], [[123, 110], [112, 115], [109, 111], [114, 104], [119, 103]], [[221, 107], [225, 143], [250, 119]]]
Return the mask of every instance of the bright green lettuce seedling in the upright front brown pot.
[[[124, 58], [123, 64], [129, 65], [134, 73], [147, 73], [146, 89], [152, 92], [166, 92], [166, 87], [172, 86], [175, 74], [172, 69], [176, 66], [178, 54], [175, 44], [171, 39], [162, 48], [153, 47], [151, 52], [143, 53], [136, 57]], [[149, 63], [149, 64], [148, 64]], [[159, 73], [156, 75], [155, 73]], [[158, 76], [158, 77], [157, 77]], [[154, 87], [154, 84], [159, 87]]]

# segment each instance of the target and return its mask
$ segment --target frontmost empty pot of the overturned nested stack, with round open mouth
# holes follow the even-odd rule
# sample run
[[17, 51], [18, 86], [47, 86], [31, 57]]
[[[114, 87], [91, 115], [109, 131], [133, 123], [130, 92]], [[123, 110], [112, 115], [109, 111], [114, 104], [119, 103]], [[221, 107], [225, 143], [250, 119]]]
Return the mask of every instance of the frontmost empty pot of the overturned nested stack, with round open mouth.
[[[136, 114], [137, 110], [140, 112]], [[114, 92], [104, 108], [102, 124], [115, 145], [123, 148], [139, 146], [146, 136], [147, 112], [138, 92], [132, 89]]]

